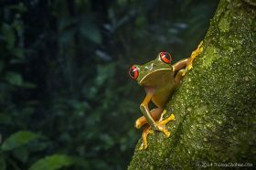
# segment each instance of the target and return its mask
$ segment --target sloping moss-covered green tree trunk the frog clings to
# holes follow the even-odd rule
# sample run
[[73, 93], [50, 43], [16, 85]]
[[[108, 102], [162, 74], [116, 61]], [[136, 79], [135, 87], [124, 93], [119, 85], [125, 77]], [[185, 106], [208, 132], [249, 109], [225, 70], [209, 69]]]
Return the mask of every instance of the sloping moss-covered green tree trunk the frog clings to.
[[[149, 135], [128, 169], [198, 169], [256, 165], [256, 6], [220, 0], [182, 84], [166, 106], [172, 133]], [[223, 167], [223, 166], [222, 166]]]

